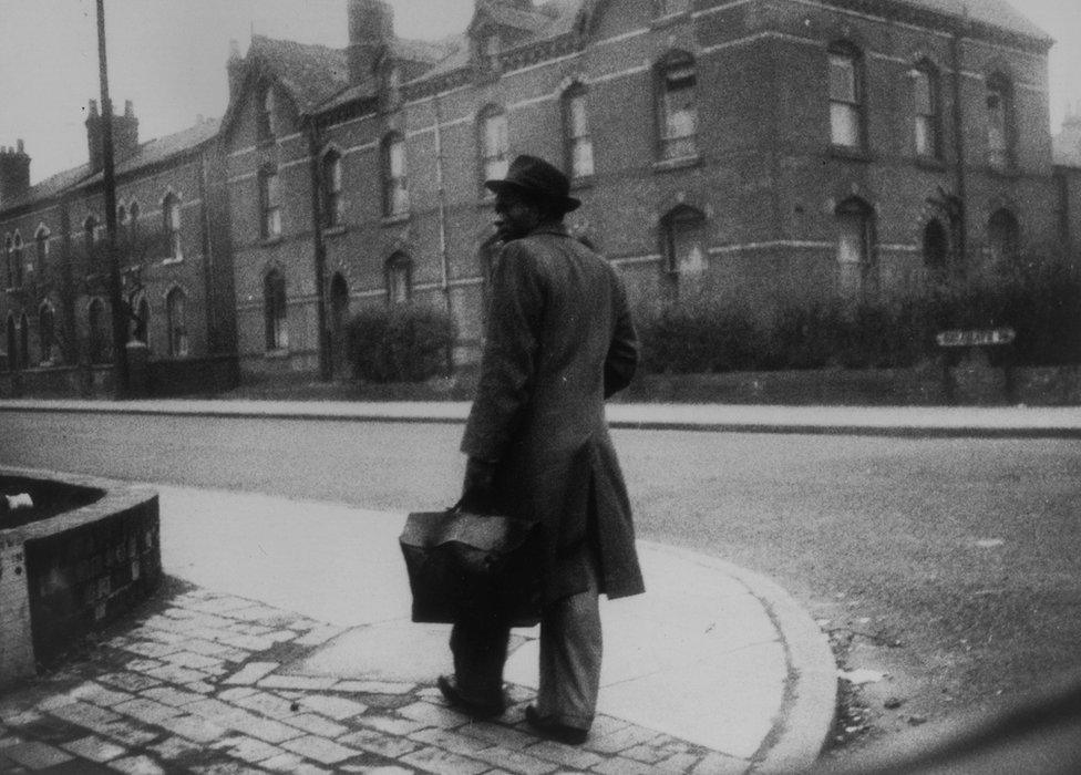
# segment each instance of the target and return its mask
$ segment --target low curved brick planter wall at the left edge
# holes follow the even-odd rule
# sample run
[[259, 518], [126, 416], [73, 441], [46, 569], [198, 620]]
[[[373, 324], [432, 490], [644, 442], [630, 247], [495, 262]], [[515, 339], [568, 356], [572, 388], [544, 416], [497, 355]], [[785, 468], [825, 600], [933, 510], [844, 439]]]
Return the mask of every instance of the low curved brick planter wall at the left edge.
[[89, 505], [0, 530], [0, 685], [32, 675], [130, 610], [162, 577], [157, 494], [83, 476], [32, 478], [103, 493]]

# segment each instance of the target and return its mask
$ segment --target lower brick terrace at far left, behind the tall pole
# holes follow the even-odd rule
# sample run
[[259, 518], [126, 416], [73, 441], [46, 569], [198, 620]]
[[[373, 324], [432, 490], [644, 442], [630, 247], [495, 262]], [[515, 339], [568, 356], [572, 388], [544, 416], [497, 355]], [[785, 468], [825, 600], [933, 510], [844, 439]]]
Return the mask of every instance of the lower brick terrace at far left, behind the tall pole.
[[[22, 141], [0, 153], [3, 393], [100, 392], [112, 380], [103, 122], [91, 101], [87, 163], [34, 186]], [[156, 392], [228, 383], [236, 324], [218, 122], [140, 143], [128, 102], [112, 128], [122, 294], [146, 379]]]

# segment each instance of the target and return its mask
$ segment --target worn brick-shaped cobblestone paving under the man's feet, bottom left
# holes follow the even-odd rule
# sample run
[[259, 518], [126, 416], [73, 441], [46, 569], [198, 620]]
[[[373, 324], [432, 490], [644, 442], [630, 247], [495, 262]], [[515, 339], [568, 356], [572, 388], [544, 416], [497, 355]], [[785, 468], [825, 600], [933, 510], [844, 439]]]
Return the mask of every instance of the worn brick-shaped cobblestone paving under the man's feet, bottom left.
[[[204, 589], [172, 588], [92, 653], [0, 696], [4, 773], [743, 773], [733, 758], [599, 716], [584, 746], [542, 741], [511, 686], [474, 722], [434, 683], [289, 674], [343, 632]], [[85, 659], [89, 657], [89, 659]], [[434, 682], [435, 676], [432, 676]]]

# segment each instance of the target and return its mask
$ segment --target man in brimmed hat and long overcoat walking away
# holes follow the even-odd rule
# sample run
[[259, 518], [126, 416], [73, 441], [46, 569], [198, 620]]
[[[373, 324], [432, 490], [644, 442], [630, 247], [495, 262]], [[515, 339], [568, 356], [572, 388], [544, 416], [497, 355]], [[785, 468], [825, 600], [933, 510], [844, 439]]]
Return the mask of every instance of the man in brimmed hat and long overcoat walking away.
[[[493, 272], [487, 339], [462, 451], [462, 505], [542, 525], [540, 684], [526, 720], [577, 744], [600, 682], [598, 595], [645, 591], [630, 504], [604, 400], [630, 382], [638, 342], [615, 270], [572, 238], [580, 204], [567, 177], [518, 156], [495, 193], [504, 247]], [[454, 624], [454, 676], [439, 686], [475, 716], [505, 707], [509, 626], [477, 611]]]

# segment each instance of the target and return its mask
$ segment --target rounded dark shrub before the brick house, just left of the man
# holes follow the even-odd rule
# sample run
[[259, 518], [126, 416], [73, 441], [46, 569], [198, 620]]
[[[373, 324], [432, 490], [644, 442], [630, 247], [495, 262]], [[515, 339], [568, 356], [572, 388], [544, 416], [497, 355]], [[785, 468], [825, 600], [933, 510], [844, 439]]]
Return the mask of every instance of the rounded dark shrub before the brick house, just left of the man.
[[454, 322], [445, 310], [422, 304], [363, 309], [349, 321], [353, 376], [422, 382], [446, 371], [454, 338]]

